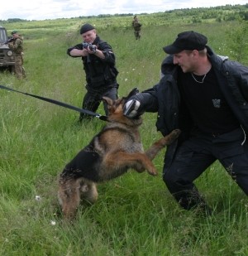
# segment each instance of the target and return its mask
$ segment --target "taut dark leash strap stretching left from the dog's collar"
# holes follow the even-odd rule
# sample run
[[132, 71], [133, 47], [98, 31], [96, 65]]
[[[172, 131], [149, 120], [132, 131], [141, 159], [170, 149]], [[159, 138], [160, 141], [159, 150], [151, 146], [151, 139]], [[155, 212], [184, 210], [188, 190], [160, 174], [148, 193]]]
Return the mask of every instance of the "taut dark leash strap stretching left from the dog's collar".
[[0, 89], [7, 89], [7, 90], [10, 90], [10, 91], [19, 93], [19, 94], [25, 94], [25, 95], [34, 97], [34, 98], [36, 98], [36, 99], [41, 99], [41, 100], [50, 102], [51, 104], [56, 104], [56, 105], [59, 105], [59, 106], [61, 106], [61, 107], [67, 108], [67, 109], [73, 109], [73, 110], [78, 111], [78, 112], [80, 112], [80, 113], [89, 114], [89, 115], [92, 115], [92, 116], [95, 117], [95, 118], [99, 118], [99, 119], [101, 119], [101, 120], [103, 120], [103, 121], [107, 121], [107, 116], [94, 113], [94, 112], [92, 112], [92, 111], [90, 111], [90, 110], [87, 110], [87, 109], [79, 109], [78, 107], [74, 107], [74, 106], [72, 106], [72, 105], [66, 104], [66, 103], [64, 103], [64, 102], [60, 102], [60, 101], [55, 100], [55, 99], [49, 99], [49, 98], [41, 97], [41, 96], [36, 95], [36, 94], [24, 93], [24, 92], [21, 92], [20, 90], [12, 89], [12, 88], [9, 88], [9, 87], [4, 86], [4, 85], [0, 85]]

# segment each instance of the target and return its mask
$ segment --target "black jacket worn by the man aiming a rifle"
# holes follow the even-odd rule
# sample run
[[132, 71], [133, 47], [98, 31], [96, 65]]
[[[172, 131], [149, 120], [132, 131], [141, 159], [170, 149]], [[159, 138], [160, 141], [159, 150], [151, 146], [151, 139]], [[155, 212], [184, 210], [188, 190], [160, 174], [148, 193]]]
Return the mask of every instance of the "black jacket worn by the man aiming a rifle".
[[[108, 85], [117, 86], [118, 70], [115, 67], [116, 60], [112, 47], [106, 41], [101, 40], [99, 36], [93, 41], [93, 45], [96, 45], [98, 50], [103, 51], [105, 59], [100, 59], [93, 54], [82, 57], [83, 70], [85, 71], [88, 86], [92, 88]], [[83, 44], [80, 43], [70, 47], [67, 50], [69, 56], [71, 56], [70, 51], [73, 49], [83, 50]]]

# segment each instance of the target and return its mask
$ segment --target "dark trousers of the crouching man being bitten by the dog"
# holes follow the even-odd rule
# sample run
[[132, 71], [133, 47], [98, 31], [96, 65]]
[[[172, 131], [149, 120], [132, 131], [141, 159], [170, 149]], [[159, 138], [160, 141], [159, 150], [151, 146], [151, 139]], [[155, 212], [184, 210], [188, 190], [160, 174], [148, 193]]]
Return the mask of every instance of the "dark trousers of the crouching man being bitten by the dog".
[[184, 209], [205, 204], [193, 181], [216, 160], [248, 196], [248, 142], [243, 129], [221, 135], [198, 133], [185, 141], [174, 162], [169, 167], [165, 162], [164, 167], [165, 184]]

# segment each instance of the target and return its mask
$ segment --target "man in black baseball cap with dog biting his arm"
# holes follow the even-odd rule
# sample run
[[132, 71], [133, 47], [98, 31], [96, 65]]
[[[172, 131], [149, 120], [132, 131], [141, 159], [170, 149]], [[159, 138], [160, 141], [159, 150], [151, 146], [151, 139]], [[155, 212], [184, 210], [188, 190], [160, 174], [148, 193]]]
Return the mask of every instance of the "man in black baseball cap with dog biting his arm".
[[195, 31], [163, 49], [160, 83], [132, 96], [125, 114], [158, 112], [164, 136], [182, 131], [167, 147], [163, 180], [185, 210], [210, 214], [193, 181], [216, 160], [248, 195], [248, 67], [217, 56]]

